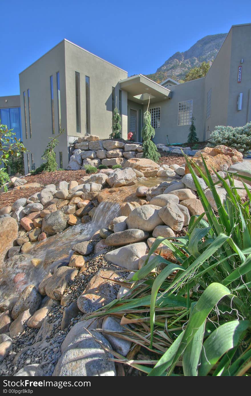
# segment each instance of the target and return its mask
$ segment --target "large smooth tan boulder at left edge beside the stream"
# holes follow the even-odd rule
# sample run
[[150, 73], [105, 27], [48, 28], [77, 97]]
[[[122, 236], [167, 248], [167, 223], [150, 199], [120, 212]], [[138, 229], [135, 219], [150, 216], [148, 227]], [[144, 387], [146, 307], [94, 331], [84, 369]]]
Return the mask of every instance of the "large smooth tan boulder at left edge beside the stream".
[[0, 219], [0, 264], [4, 261], [6, 253], [17, 239], [18, 225], [12, 217]]

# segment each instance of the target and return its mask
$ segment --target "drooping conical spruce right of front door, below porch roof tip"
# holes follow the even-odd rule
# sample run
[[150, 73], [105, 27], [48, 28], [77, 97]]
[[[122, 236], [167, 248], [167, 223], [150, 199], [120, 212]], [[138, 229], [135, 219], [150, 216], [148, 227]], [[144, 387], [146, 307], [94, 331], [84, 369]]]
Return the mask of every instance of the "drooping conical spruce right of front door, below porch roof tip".
[[[150, 97], [148, 102], [148, 107], [150, 103]], [[157, 147], [155, 143], [151, 140], [155, 135], [155, 130], [151, 126], [151, 114], [148, 111], [144, 113], [144, 126], [142, 128], [142, 148], [143, 148], [143, 157], [148, 158], [154, 162], [158, 162], [160, 154], [157, 151]]]

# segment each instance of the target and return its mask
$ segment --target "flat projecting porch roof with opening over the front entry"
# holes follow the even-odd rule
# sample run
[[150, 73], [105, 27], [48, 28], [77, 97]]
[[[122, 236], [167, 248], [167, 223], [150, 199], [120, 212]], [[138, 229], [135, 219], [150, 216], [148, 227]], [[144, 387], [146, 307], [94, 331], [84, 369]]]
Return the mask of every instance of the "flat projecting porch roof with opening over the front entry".
[[157, 82], [138, 74], [120, 81], [120, 88], [127, 92], [127, 99], [147, 105], [150, 96], [150, 103], [171, 99], [172, 91]]

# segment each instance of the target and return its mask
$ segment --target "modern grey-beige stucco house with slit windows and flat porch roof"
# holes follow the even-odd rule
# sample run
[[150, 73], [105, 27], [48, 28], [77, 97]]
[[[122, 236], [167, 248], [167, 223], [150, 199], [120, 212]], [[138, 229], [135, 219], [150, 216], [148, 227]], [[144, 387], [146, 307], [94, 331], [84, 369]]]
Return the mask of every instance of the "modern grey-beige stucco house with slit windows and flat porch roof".
[[19, 82], [26, 173], [42, 163], [49, 138], [60, 128], [60, 168], [67, 167], [78, 137], [109, 138], [116, 105], [121, 137], [131, 131], [134, 141], [142, 141], [149, 97], [156, 144], [167, 143], [167, 135], [169, 143], [185, 143], [192, 114], [204, 141], [217, 125], [251, 121], [251, 24], [232, 26], [207, 76], [183, 84], [171, 78], [157, 84], [142, 74], [128, 78], [125, 70], [68, 40], [21, 72]]

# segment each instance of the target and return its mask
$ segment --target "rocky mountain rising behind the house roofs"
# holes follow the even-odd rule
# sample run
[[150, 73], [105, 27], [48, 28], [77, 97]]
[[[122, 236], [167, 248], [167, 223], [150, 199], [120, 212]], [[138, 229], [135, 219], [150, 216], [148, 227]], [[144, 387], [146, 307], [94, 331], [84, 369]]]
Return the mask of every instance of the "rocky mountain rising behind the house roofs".
[[187, 51], [174, 53], [157, 69], [156, 73], [147, 74], [146, 77], [158, 83], [168, 77], [177, 81], [184, 80], [187, 72], [201, 65], [203, 61], [212, 64], [226, 35], [227, 33], [220, 33], [201, 38]]

